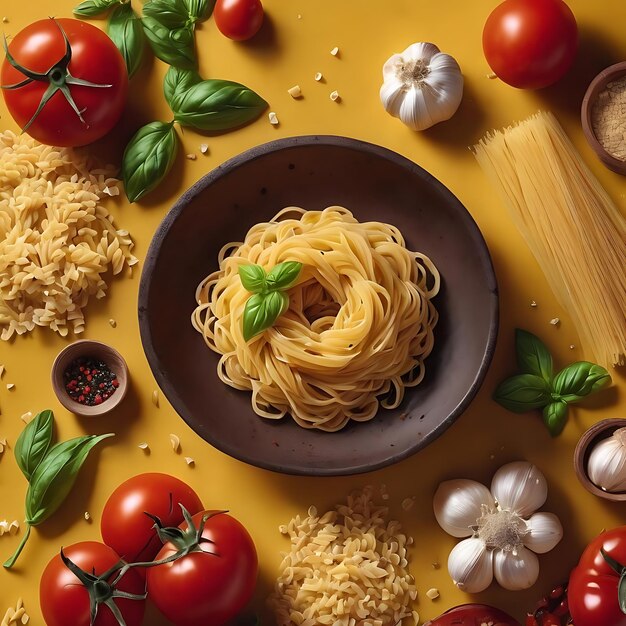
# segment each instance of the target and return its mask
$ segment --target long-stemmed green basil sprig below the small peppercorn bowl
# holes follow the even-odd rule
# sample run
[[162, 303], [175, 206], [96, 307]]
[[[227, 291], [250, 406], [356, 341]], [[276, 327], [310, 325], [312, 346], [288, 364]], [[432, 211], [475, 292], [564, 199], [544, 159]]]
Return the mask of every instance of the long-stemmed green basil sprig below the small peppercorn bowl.
[[4, 562], [12, 567], [22, 552], [30, 530], [47, 520], [67, 498], [78, 472], [92, 448], [107, 435], [87, 435], [51, 447], [54, 430], [52, 411], [42, 411], [26, 425], [15, 444], [15, 458], [29, 482], [26, 492], [26, 532], [13, 555]]

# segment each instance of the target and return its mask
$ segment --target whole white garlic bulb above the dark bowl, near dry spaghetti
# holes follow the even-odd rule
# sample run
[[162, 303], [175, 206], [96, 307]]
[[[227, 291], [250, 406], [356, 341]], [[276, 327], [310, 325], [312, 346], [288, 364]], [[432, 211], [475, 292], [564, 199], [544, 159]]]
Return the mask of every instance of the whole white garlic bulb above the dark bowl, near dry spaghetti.
[[380, 100], [413, 130], [450, 119], [463, 97], [459, 64], [432, 43], [414, 43], [383, 66]]

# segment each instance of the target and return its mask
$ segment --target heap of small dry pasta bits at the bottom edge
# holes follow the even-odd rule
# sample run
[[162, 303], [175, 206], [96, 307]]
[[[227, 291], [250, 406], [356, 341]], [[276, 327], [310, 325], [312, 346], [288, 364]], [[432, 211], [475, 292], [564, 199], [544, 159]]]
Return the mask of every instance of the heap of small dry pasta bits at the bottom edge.
[[417, 623], [407, 536], [372, 495], [366, 487], [347, 504], [321, 515], [312, 507], [285, 527], [291, 549], [269, 600], [278, 626]]

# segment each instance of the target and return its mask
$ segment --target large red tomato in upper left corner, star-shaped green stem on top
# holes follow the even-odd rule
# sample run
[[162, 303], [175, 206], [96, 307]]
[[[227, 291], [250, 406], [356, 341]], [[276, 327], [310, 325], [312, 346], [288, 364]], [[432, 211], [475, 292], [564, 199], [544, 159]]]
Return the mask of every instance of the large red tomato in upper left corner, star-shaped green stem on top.
[[[71, 47], [71, 60], [66, 69], [59, 65], [66, 53], [60, 27]], [[63, 93], [57, 91], [26, 131], [37, 141], [55, 146], [82, 146], [106, 135], [119, 120], [128, 92], [126, 66], [115, 44], [95, 26], [67, 18], [40, 20], [11, 40], [9, 52], [27, 70], [48, 74], [43, 80], [33, 80], [23, 87], [2, 90], [9, 112], [21, 128], [35, 114], [51, 81], [64, 84], [68, 72], [77, 79], [110, 85], [67, 84], [84, 122]], [[55, 64], [57, 68], [51, 69]], [[2, 85], [17, 84], [25, 79], [22, 72], [4, 60], [0, 74]]]

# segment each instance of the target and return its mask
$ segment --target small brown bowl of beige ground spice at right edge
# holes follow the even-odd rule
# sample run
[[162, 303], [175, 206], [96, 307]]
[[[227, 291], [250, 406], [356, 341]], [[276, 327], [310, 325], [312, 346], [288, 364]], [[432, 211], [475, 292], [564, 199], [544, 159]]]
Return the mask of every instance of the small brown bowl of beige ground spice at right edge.
[[585, 137], [602, 163], [626, 174], [626, 61], [600, 72], [592, 81], [581, 109]]

